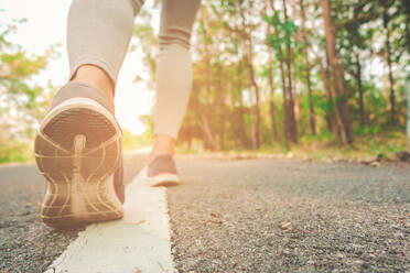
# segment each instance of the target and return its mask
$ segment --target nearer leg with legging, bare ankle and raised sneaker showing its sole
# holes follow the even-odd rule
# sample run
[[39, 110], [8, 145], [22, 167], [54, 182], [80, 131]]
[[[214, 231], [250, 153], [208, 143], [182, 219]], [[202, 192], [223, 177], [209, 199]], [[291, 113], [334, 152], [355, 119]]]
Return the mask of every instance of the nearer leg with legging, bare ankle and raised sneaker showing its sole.
[[114, 87], [133, 30], [137, 0], [74, 0], [68, 13], [71, 79], [34, 141], [47, 182], [41, 215], [52, 227], [121, 218], [122, 133]]

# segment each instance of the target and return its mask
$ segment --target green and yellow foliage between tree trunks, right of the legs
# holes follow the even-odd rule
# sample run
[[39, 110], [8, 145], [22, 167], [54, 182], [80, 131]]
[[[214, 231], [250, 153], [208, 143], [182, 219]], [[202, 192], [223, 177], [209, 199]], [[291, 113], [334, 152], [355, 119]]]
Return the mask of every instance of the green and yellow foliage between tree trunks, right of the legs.
[[[336, 122], [332, 120], [332, 117], [337, 116], [335, 106], [343, 98], [335, 92], [334, 75], [326, 61], [323, 18], [319, 1], [304, 1], [305, 25], [301, 25], [301, 11], [299, 10], [301, 2], [299, 0], [292, 2], [293, 8], [288, 11], [289, 17], [284, 17], [283, 6], [280, 1], [278, 2], [274, 1], [273, 6], [268, 2], [249, 0], [220, 0], [204, 3], [194, 32], [196, 35], [194, 39], [196, 43], [193, 47], [194, 84], [188, 111], [180, 134], [181, 145], [186, 143], [190, 143], [187, 146], [201, 145], [202, 141], [204, 146], [211, 150], [249, 149], [251, 146], [256, 122], [253, 87], [249, 77], [249, 67], [252, 66], [261, 96], [259, 110], [262, 121], [262, 144], [265, 148], [278, 146], [282, 152], [289, 151], [290, 148], [283, 138], [285, 121], [280, 72], [280, 62], [285, 62], [288, 54], [292, 56], [292, 92], [295, 100], [299, 136], [302, 142], [338, 143], [337, 136], [333, 134], [336, 130], [330, 131], [330, 125], [336, 127], [337, 124], [330, 124], [330, 122]], [[380, 1], [331, 2], [334, 11], [337, 11], [332, 13], [337, 34], [336, 50], [339, 53], [343, 70], [346, 72], [347, 103], [356, 136], [369, 138], [384, 130], [402, 132], [404, 122], [402, 117], [406, 117], [403, 111], [406, 109], [403, 81], [406, 75], [402, 72], [406, 70], [409, 59], [409, 47], [404, 43], [407, 40], [399, 32], [403, 33], [403, 22], [409, 22], [409, 17], [399, 9], [396, 9], [398, 13], [389, 10], [388, 28], [393, 37], [391, 39], [395, 50], [392, 62], [395, 62], [397, 112], [399, 113], [399, 124], [390, 127], [389, 96], [380, 76], [380, 67], [386, 64], [385, 51], [379, 46], [385, 43], [386, 39], [386, 29], [382, 25], [384, 4]], [[387, 4], [399, 7], [401, 3], [388, 1]], [[253, 9], [249, 10], [249, 7]], [[255, 10], [259, 12], [253, 12]], [[409, 31], [409, 25], [406, 28]], [[251, 55], [247, 54], [249, 43], [252, 43]], [[290, 51], [287, 51], [287, 46]], [[309, 48], [306, 50], [305, 46]], [[271, 63], [267, 59], [269, 54], [273, 56]], [[400, 62], [397, 56], [401, 57]], [[306, 59], [310, 63], [306, 63]], [[362, 91], [366, 114], [364, 127], [359, 125], [357, 61], [362, 67]], [[331, 95], [324, 90], [324, 75], [319, 65], [320, 62], [325, 73], [328, 74]], [[284, 74], [288, 73], [287, 69], [284, 66]], [[308, 96], [308, 76], [310, 76], [312, 89], [311, 99]], [[270, 84], [273, 85], [273, 97], [270, 95]], [[272, 98], [279, 140], [272, 138], [270, 112], [270, 99]], [[311, 135], [310, 130], [311, 101], [315, 109], [316, 135]], [[363, 149], [359, 150], [363, 151]], [[373, 149], [373, 151], [376, 150]]]

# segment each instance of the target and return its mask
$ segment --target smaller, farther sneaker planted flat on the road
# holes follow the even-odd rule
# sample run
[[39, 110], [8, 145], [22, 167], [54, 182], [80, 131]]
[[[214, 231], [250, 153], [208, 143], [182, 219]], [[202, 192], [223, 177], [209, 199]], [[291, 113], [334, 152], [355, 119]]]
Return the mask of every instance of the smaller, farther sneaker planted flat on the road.
[[159, 155], [148, 164], [147, 179], [151, 187], [176, 186], [181, 183], [172, 155]]

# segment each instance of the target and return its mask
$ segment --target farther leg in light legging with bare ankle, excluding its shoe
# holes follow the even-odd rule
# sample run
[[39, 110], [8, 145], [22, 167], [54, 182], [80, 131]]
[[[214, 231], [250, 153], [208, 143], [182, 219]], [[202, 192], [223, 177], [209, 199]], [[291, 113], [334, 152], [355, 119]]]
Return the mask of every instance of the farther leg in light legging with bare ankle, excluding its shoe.
[[155, 143], [151, 159], [173, 154], [192, 88], [190, 40], [199, 4], [201, 0], [162, 0]]

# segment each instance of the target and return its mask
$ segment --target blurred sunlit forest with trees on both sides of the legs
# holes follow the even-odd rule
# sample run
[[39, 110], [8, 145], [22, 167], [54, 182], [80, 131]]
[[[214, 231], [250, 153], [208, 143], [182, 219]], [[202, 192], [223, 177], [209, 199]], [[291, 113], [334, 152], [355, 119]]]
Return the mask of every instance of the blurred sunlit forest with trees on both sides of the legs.
[[[150, 9], [141, 11], [134, 37], [153, 89], [158, 40], [151, 18]], [[0, 25], [0, 162], [31, 159], [35, 128], [57, 89], [30, 80], [53, 48], [29, 57], [8, 42], [20, 23]], [[406, 150], [409, 1], [203, 1], [192, 53], [180, 152], [337, 159]], [[140, 119], [148, 130], [126, 130], [127, 149], [153, 139], [152, 114]]]

